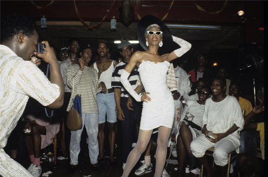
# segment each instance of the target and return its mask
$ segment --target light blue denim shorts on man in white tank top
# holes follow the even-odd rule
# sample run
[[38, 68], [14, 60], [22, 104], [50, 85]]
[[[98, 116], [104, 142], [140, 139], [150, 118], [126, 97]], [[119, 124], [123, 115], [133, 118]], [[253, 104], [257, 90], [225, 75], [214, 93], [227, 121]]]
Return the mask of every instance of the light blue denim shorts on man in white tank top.
[[115, 114], [115, 92], [112, 93], [98, 93], [98, 121], [104, 123], [106, 121], [105, 116], [107, 114], [107, 122], [115, 123], [117, 121]]

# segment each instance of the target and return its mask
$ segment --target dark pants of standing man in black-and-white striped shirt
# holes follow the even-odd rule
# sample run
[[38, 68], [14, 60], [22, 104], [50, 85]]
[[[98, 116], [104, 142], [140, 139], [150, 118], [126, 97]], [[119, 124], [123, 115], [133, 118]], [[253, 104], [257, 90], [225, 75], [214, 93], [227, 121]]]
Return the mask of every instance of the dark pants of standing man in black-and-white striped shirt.
[[128, 98], [121, 97], [121, 108], [124, 112], [125, 118], [121, 121], [122, 125], [122, 144], [123, 144], [123, 162], [126, 163], [128, 155], [132, 150], [132, 143], [136, 142], [137, 139], [133, 139], [134, 132], [136, 133], [137, 121], [140, 119], [141, 113], [141, 102], [133, 100], [132, 109], [128, 110], [127, 104]]

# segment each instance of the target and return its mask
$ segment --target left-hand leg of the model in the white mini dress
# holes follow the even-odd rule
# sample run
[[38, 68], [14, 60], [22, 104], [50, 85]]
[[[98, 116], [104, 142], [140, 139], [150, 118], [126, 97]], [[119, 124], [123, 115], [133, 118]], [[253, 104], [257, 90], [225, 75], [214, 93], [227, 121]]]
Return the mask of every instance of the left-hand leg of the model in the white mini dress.
[[123, 177], [129, 176], [131, 170], [137, 163], [141, 154], [145, 151], [148, 145], [148, 142], [150, 141], [152, 132], [153, 130], [139, 130], [139, 137], [138, 137], [137, 144], [128, 156], [126, 167], [123, 172]]

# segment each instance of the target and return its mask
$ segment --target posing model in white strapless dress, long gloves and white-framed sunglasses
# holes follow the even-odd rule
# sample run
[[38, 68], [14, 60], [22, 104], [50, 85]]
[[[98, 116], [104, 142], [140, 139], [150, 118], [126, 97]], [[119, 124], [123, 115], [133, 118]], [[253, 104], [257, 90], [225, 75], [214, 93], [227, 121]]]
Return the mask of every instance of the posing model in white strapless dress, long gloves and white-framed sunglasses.
[[[174, 100], [167, 85], [169, 61], [181, 57], [191, 48], [191, 44], [172, 36], [181, 48], [164, 55], [158, 54], [161, 47], [162, 31], [158, 24], [151, 24], [145, 29], [147, 51], [136, 51], [123, 70], [120, 80], [125, 89], [137, 101], [143, 101], [142, 116], [138, 141], [127, 158], [123, 177], [128, 177], [134, 165], [145, 151], [154, 128], [158, 127], [155, 177], [161, 177], [167, 155], [168, 139], [174, 117]], [[166, 44], [168, 45], [168, 44]], [[145, 93], [139, 96], [131, 87], [128, 77], [137, 65]]]

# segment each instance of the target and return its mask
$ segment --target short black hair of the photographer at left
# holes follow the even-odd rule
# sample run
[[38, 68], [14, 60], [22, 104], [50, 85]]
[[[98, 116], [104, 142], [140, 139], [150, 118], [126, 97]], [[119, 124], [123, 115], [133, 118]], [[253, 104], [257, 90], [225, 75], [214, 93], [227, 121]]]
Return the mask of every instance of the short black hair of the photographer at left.
[[36, 30], [36, 22], [28, 17], [19, 14], [11, 14], [1, 19], [1, 41], [12, 39], [22, 33], [30, 37]]

